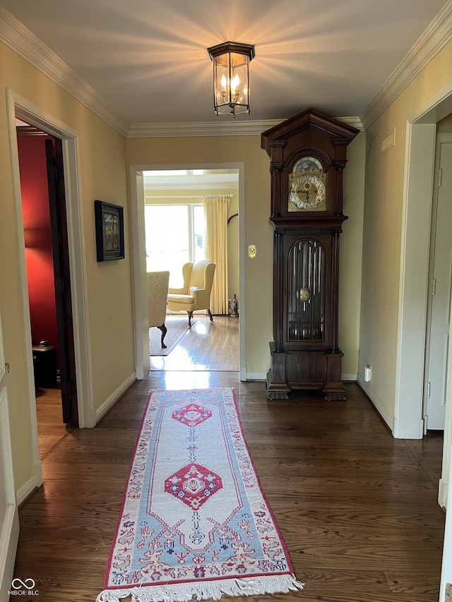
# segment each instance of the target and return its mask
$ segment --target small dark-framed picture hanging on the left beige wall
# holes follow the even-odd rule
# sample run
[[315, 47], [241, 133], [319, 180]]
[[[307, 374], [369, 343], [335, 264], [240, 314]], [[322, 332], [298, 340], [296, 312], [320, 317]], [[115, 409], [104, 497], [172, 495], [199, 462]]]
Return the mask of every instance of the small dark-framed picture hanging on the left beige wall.
[[124, 209], [94, 201], [97, 261], [124, 259]]

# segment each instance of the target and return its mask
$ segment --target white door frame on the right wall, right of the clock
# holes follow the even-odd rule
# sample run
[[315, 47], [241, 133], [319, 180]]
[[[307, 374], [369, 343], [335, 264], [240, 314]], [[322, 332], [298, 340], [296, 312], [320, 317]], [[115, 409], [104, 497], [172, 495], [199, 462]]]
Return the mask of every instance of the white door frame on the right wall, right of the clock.
[[[422, 439], [422, 397], [427, 327], [430, 222], [436, 123], [452, 113], [452, 82], [407, 119], [400, 265], [394, 437]], [[429, 199], [429, 203], [426, 203]], [[417, 303], [412, 303], [417, 299]], [[452, 337], [446, 381], [446, 424], [439, 505], [447, 505], [452, 445]]]

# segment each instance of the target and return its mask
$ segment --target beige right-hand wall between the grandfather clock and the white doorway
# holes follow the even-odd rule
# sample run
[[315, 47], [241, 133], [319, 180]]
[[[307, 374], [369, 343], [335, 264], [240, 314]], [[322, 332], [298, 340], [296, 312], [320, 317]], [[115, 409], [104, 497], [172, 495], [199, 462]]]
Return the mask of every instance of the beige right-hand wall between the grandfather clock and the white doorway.
[[[396, 399], [407, 121], [450, 84], [451, 64], [449, 42], [367, 130], [359, 373], [362, 375], [364, 365], [371, 364], [369, 392], [392, 417]], [[446, 123], [444, 126], [447, 127]], [[381, 143], [391, 132], [395, 132], [395, 145], [382, 152]], [[420, 291], [422, 294], [424, 291]], [[418, 303], [421, 298], [408, 301]], [[424, 328], [424, 324], [419, 327]], [[407, 371], [409, 366], [401, 369]]]

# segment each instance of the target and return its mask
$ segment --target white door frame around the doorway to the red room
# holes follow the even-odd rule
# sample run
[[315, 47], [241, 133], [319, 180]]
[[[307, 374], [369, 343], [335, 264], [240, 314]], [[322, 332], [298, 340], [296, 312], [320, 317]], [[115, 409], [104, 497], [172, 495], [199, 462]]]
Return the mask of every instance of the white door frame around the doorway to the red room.
[[30, 421], [32, 433], [32, 454], [34, 473], [23, 490], [18, 492], [18, 502], [42, 483], [42, 470], [37, 440], [37, 419], [35, 385], [32, 365], [32, 338], [30, 326], [30, 308], [28, 301], [27, 270], [25, 265], [25, 240], [23, 234], [22, 198], [20, 192], [20, 171], [16, 137], [16, 116], [32, 126], [42, 129], [61, 139], [64, 158], [64, 180], [66, 188], [67, 227], [69, 239], [69, 257], [71, 261], [71, 299], [73, 306], [74, 348], [76, 355], [76, 378], [78, 390], [78, 421], [81, 428], [95, 426], [93, 404], [93, 375], [91, 371], [91, 350], [88, 311], [88, 283], [86, 279], [85, 243], [83, 231], [83, 204], [81, 198], [80, 156], [78, 133], [71, 126], [47, 113], [10, 88], [6, 89], [6, 110], [8, 114], [8, 136], [13, 177], [13, 198], [16, 205], [16, 232], [18, 237], [18, 258], [22, 308], [24, 315], [25, 342], [29, 342], [29, 353], [25, 358], [30, 391]]

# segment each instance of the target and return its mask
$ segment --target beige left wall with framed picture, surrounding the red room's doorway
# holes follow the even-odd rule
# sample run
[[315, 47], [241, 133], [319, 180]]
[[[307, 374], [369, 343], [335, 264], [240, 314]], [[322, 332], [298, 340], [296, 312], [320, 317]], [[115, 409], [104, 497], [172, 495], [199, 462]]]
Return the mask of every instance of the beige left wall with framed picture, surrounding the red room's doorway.
[[[126, 185], [124, 136], [105, 124], [80, 102], [42, 75], [18, 54], [0, 43], [0, 308], [5, 356], [11, 363], [8, 396], [13, 440], [16, 489], [32, 478], [30, 399], [26, 359], [31, 354], [25, 340], [20, 289], [20, 255], [13, 200], [12, 170], [6, 114], [6, 88], [78, 133], [83, 234], [88, 283], [89, 333], [93, 373], [93, 399], [99, 408], [134, 371], [131, 303], [131, 253]], [[93, 201], [99, 198], [124, 205], [126, 260], [97, 264]], [[73, 282], [73, 287], [77, 286]]]

